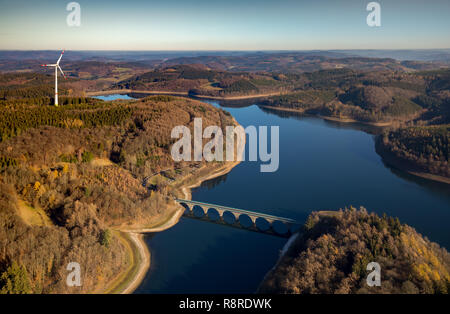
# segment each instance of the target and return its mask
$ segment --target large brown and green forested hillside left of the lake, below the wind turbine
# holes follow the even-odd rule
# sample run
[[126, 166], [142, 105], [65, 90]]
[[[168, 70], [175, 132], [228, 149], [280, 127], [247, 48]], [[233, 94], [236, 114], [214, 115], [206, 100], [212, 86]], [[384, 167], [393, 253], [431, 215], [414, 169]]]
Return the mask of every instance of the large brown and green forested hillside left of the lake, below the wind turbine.
[[[172, 128], [193, 128], [193, 117], [235, 124], [220, 109], [169, 96], [64, 103], [2, 105], [0, 293], [101, 291], [129, 265], [115, 230], [165, 217], [180, 193], [171, 179], [200, 169], [173, 161]], [[69, 262], [82, 267], [79, 288], [65, 284]]]

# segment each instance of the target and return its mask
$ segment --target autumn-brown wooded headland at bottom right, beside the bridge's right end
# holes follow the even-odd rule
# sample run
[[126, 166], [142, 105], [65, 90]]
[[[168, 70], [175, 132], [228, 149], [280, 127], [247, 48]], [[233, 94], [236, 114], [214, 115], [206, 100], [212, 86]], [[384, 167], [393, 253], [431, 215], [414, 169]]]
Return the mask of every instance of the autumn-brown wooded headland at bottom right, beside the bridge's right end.
[[[381, 286], [369, 287], [366, 266], [381, 267]], [[450, 289], [450, 254], [392, 217], [364, 208], [315, 212], [260, 293], [427, 293]]]

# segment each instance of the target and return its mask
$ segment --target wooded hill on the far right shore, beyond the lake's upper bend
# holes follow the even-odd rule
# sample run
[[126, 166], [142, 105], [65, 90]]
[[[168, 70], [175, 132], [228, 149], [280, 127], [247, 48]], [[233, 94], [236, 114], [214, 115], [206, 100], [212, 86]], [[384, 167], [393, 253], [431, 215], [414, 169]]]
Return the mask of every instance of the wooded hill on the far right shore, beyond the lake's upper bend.
[[262, 104], [362, 122], [448, 123], [449, 73], [350, 69], [304, 73], [303, 86], [269, 97]]

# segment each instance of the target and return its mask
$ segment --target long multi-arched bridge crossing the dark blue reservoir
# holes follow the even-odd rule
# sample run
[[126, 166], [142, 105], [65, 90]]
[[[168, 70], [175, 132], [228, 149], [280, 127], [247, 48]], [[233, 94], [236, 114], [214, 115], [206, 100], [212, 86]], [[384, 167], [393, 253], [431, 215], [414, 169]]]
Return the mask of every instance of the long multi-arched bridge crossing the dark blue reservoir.
[[289, 237], [300, 227], [296, 220], [289, 218], [204, 202], [183, 199], [175, 199], [175, 201], [185, 208], [184, 216], [186, 217], [250, 231]]

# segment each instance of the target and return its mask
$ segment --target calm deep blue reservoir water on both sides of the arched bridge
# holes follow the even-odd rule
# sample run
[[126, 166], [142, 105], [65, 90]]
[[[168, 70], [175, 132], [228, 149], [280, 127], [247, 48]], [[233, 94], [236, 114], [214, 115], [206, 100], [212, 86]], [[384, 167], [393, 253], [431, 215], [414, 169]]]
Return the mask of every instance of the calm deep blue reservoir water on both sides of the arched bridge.
[[[194, 200], [299, 220], [311, 211], [364, 206], [450, 247], [450, 188], [383, 164], [374, 136], [361, 127], [255, 105], [225, 109], [243, 126], [280, 126], [279, 170], [260, 173], [258, 162], [243, 162], [204, 182]], [[251, 293], [286, 240], [182, 218], [146, 242], [152, 265], [137, 293]]]

